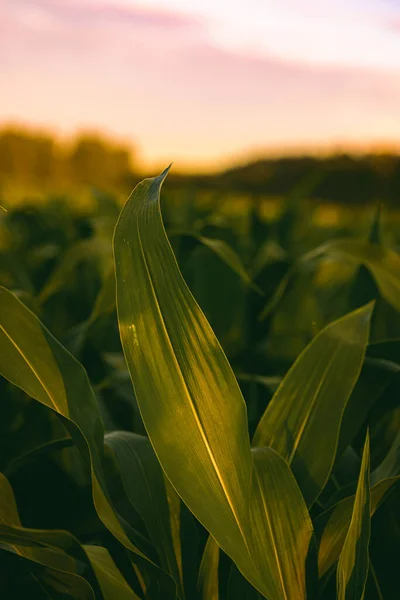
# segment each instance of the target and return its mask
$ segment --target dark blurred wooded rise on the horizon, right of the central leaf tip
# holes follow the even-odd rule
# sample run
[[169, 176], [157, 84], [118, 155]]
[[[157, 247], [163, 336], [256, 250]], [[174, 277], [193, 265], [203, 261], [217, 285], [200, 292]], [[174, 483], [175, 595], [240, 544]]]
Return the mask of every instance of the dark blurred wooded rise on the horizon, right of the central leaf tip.
[[315, 197], [340, 203], [377, 199], [400, 206], [400, 156], [371, 154], [261, 159], [212, 176], [170, 176], [171, 185], [221, 192]]

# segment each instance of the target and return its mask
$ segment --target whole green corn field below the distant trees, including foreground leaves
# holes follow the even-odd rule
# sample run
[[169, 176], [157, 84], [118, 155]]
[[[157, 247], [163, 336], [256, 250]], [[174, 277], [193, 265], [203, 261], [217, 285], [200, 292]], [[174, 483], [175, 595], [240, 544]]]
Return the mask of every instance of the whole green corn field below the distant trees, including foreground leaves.
[[2, 202], [1, 597], [399, 598], [396, 221], [167, 175]]

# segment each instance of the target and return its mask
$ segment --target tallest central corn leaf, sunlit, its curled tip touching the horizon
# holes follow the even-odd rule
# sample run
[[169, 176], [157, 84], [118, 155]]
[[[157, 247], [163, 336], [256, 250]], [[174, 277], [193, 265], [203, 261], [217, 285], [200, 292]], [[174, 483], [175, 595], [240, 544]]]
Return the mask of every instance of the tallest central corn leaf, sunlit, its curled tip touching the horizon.
[[252, 570], [246, 406], [168, 243], [159, 208], [166, 174], [135, 188], [115, 229], [122, 346], [167, 477], [226, 553]]

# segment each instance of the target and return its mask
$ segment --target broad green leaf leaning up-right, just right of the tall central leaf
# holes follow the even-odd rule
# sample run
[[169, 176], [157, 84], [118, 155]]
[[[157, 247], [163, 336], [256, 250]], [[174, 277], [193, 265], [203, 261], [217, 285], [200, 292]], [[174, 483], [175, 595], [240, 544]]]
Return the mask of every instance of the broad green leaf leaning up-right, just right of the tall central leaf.
[[[343, 411], [360, 374], [372, 304], [330, 323], [297, 358], [254, 435], [290, 464], [310, 505], [324, 488], [336, 454]], [[321, 445], [323, 432], [324, 444]]]

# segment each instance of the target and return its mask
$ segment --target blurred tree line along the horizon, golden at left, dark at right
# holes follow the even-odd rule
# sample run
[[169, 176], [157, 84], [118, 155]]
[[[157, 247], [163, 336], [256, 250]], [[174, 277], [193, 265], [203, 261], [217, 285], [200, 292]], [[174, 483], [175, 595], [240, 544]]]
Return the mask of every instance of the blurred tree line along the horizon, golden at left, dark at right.
[[[264, 158], [213, 175], [179, 174], [169, 187], [213, 189], [223, 194], [297, 196], [341, 203], [400, 202], [400, 155], [292, 156]], [[99, 134], [81, 133], [71, 142], [51, 134], [16, 127], [0, 130], [0, 185], [63, 182], [100, 189], [129, 189], [143, 175], [127, 146]]]

